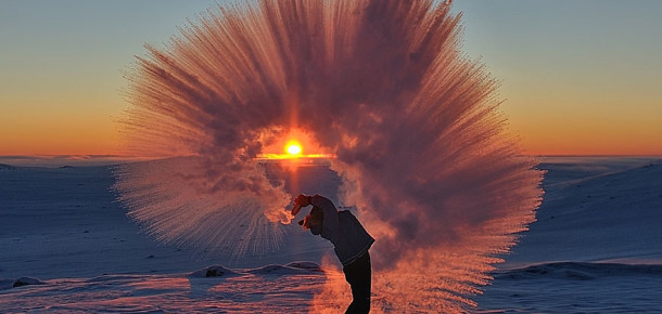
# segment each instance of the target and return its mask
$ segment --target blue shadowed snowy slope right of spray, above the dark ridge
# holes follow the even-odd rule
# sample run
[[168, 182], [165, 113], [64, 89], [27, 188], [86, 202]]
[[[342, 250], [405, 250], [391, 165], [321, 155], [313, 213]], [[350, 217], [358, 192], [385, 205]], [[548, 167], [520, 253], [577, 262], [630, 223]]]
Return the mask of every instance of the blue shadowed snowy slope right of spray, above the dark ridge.
[[626, 161], [540, 165], [545, 200], [507, 262], [662, 262], [662, 162]]

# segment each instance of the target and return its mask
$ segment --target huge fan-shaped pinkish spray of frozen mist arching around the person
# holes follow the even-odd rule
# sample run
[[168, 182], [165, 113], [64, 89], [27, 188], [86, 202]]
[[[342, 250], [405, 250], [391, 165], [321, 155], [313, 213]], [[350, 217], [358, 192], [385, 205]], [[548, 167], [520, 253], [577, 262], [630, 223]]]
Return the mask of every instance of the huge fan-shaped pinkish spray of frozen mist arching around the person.
[[242, 257], [283, 241], [292, 194], [255, 157], [290, 130], [338, 156], [341, 205], [377, 238], [378, 306], [444, 311], [488, 283], [534, 221], [542, 171], [498, 114], [495, 80], [433, 1], [218, 8], [129, 73], [117, 170], [129, 215], [164, 243]]

